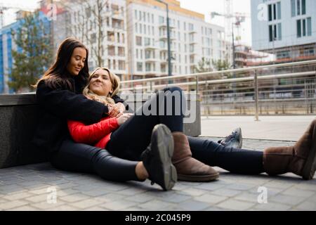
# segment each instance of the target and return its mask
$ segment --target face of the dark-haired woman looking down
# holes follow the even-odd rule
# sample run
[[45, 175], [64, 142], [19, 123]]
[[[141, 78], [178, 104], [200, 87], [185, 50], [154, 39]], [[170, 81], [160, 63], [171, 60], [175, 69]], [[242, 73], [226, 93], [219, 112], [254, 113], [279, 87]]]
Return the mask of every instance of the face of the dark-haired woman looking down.
[[84, 68], [84, 62], [86, 60], [86, 49], [76, 48], [72, 52], [72, 57], [67, 65], [67, 70], [71, 75], [77, 76], [79, 72]]

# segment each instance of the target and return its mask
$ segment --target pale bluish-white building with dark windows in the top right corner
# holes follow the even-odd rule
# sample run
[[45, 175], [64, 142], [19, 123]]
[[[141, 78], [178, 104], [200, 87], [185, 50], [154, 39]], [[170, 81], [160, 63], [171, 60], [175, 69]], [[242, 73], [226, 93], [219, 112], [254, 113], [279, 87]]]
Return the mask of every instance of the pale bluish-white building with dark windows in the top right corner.
[[315, 0], [251, 0], [252, 47], [277, 63], [316, 59]]

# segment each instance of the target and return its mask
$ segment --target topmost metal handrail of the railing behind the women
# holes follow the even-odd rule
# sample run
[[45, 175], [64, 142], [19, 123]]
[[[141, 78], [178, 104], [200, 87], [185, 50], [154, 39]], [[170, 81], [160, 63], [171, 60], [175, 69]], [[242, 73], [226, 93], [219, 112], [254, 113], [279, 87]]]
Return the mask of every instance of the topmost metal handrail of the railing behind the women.
[[[227, 73], [237, 73], [237, 72], [247, 72], [251, 70], [260, 70], [260, 69], [271, 69], [271, 68], [282, 68], [287, 66], [297, 66], [297, 65], [309, 65], [316, 63], [316, 60], [308, 60], [308, 61], [301, 61], [301, 62], [294, 62], [294, 63], [280, 63], [280, 64], [274, 64], [274, 65], [261, 65], [251, 68], [240, 68], [240, 69], [232, 69], [232, 70], [220, 70], [220, 71], [213, 71], [213, 72], [200, 72], [190, 75], [176, 75], [171, 77], [154, 77], [154, 78], [148, 78], [148, 79], [133, 79], [129, 81], [122, 81], [121, 84], [132, 84], [136, 82], [154, 82], [159, 80], [169, 80], [169, 79], [178, 79], [183, 77], [201, 77], [205, 75], [223, 75]], [[231, 79], [230, 79], [231, 80]]]

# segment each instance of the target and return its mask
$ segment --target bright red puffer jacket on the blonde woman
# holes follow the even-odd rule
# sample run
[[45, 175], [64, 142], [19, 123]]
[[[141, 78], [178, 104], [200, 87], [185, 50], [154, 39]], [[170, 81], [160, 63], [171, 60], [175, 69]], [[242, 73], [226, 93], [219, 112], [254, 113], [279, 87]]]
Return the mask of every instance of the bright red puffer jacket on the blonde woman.
[[117, 118], [105, 117], [96, 124], [86, 125], [83, 122], [68, 120], [68, 129], [72, 139], [98, 148], [105, 148], [110, 136], [119, 127]]

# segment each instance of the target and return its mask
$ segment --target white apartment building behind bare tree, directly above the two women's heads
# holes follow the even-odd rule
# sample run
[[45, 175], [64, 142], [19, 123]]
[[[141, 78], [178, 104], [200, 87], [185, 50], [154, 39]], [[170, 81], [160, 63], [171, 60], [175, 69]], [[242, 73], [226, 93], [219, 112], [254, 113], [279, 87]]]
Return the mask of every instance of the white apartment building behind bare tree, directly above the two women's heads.
[[70, 1], [67, 8], [71, 36], [83, 41], [90, 51], [89, 68], [107, 67], [126, 79], [126, 1]]

